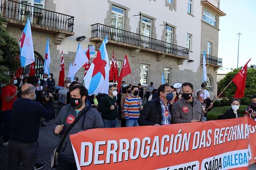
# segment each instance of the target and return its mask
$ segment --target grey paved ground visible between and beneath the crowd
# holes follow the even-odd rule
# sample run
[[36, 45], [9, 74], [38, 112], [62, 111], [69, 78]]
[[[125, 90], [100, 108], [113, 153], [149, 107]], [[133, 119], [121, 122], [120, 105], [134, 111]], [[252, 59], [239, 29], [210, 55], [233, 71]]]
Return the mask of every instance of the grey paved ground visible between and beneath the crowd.
[[[37, 162], [44, 164], [44, 170], [51, 170], [51, 155], [58, 146], [60, 139], [52, 134], [52, 121], [44, 122], [46, 127], [41, 127], [39, 132], [39, 146]], [[118, 121], [120, 127], [120, 121]], [[1, 137], [0, 137], [1, 138]], [[1, 143], [0, 139], [0, 143]], [[7, 170], [8, 148], [0, 146], [0, 170]], [[20, 169], [22, 169], [20, 167]], [[256, 170], [256, 163], [250, 166], [249, 170]]]

